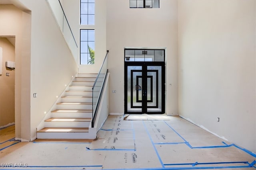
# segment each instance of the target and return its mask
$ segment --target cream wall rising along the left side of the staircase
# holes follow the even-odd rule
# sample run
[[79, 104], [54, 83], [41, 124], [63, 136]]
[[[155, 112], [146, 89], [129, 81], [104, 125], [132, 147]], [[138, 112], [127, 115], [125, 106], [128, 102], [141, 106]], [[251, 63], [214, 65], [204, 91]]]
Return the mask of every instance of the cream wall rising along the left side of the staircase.
[[[31, 10], [30, 139], [36, 127], [66, 88], [77, 65], [46, 1], [20, 0]], [[37, 98], [33, 98], [33, 94]]]

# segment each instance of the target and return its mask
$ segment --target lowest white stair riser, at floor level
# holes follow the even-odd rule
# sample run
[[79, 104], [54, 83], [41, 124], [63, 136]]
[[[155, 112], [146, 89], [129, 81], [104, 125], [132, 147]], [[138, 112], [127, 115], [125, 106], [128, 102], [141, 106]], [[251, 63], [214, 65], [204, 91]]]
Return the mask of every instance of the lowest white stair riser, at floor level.
[[95, 139], [88, 132], [38, 132], [37, 139]]

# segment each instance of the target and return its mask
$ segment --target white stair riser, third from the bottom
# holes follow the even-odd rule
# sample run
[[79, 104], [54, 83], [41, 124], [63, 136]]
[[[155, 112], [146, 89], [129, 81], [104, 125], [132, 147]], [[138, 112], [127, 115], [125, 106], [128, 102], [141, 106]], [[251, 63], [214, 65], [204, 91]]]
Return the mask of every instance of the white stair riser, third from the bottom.
[[52, 118], [92, 118], [92, 112], [52, 112]]

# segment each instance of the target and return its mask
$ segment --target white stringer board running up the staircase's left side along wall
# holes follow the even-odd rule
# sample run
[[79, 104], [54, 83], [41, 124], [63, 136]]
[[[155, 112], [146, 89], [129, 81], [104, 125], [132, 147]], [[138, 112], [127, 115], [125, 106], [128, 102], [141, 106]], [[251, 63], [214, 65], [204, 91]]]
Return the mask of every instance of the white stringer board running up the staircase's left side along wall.
[[[45, 120], [50, 119], [51, 118], [51, 111], [55, 110], [57, 108], [57, 103], [59, 103], [61, 101], [61, 97], [65, 94], [66, 90], [69, 88], [70, 84], [72, 84], [74, 78], [76, 78], [76, 76], [78, 75], [78, 73], [74, 76], [72, 76], [70, 82], [67, 84], [66, 88], [64, 88], [64, 90], [62, 91], [62, 93], [58, 96], [57, 100], [54, 102], [54, 104], [52, 105], [52, 107], [48, 110], [48, 112], [45, 114], [44, 118], [40, 121], [40, 123], [38, 124], [38, 126], [36, 127], [36, 131], [38, 131], [39, 129], [44, 128], [45, 126]], [[32, 139], [31, 141], [34, 141], [36, 139], [36, 137], [34, 137], [34, 139]]]

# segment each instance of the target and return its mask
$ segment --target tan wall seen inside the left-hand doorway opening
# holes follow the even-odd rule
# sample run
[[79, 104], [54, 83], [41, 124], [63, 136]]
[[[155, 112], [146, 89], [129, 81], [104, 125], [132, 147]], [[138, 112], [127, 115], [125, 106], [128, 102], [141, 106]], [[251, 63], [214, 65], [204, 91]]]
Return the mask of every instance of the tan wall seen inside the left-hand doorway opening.
[[[0, 127], [14, 123], [15, 70], [6, 68], [6, 61], [15, 61], [15, 47], [6, 38], [0, 37], [2, 48], [2, 75], [0, 75]], [[6, 76], [6, 73], [9, 75]]]

